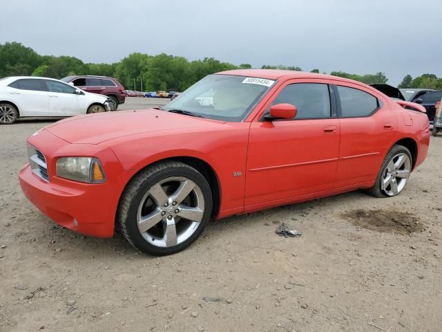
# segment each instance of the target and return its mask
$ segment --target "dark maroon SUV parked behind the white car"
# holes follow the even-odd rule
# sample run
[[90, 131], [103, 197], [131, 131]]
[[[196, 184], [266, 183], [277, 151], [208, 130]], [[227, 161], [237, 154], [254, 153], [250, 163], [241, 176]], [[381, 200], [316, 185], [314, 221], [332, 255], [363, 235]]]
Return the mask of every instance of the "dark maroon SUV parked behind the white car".
[[126, 100], [124, 86], [113, 77], [83, 75], [67, 76], [61, 80], [84, 91], [107, 95], [112, 100], [109, 104], [113, 111], [118, 108], [119, 104], [124, 104], [124, 100]]

